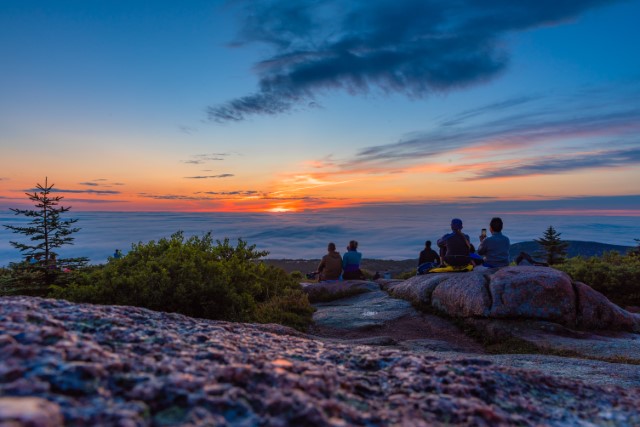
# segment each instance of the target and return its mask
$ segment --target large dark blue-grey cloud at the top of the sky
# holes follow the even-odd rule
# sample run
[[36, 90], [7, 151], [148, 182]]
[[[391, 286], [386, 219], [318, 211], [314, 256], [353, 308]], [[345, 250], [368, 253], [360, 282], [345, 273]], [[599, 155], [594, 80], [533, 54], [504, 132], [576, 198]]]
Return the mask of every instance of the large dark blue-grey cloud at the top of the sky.
[[508, 65], [506, 35], [575, 18], [607, 0], [237, 0], [234, 46], [266, 43], [257, 92], [208, 109], [240, 121], [315, 104], [318, 94], [379, 90], [412, 98], [485, 82]]

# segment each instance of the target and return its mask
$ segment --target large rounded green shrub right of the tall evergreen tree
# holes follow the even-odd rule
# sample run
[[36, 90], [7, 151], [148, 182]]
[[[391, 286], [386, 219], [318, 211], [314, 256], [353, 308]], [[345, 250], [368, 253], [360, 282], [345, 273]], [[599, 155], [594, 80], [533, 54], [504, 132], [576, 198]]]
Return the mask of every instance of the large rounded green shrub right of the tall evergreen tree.
[[[81, 274], [51, 296], [96, 304], [145, 307], [192, 317], [274, 322], [304, 329], [313, 308], [284, 270], [258, 260], [267, 252], [211, 233], [139, 243], [120, 259]], [[288, 305], [290, 303], [290, 305]]]

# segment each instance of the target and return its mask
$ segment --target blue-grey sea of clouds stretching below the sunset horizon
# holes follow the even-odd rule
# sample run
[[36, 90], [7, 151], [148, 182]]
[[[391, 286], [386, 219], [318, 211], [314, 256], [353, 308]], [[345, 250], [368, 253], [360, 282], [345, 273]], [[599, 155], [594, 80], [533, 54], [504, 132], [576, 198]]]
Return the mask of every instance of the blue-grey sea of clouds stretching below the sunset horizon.
[[[73, 246], [62, 248], [62, 257], [86, 256], [92, 263], [103, 263], [114, 250], [124, 253], [132, 243], [169, 237], [182, 230], [186, 236], [207, 231], [214, 238], [247, 240], [268, 258], [314, 259], [335, 242], [343, 252], [349, 240], [359, 242], [366, 258], [408, 259], [417, 254], [429, 239], [435, 242], [449, 231], [452, 217], [464, 222], [464, 231], [478, 244], [482, 228], [488, 228], [494, 213], [477, 205], [368, 206], [361, 208], [304, 213], [148, 213], [148, 212], [70, 212], [81, 230]], [[633, 216], [573, 216], [500, 214], [504, 234], [512, 243], [539, 238], [553, 225], [567, 240], [597, 241], [634, 246], [640, 238], [640, 221]], [[24, 225], [25, 220], [10, 211], [0, 212], [0, 224]], [[24, 236], [0, 229], [0, 266], [19, 261], [20, 254], [10, 240], [26, 243]]]

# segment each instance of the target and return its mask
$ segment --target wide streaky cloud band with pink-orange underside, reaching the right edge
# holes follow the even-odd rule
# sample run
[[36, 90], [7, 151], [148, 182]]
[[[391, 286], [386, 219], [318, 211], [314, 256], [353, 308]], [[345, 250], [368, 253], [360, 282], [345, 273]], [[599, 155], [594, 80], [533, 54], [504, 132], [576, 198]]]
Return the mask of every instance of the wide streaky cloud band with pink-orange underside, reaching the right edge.
[[351, 157], [308, 161], [307, 172], [291, 175], [338, 182], [458, 172], [458, 179], [472, 180], [639, 164], [637, 99], [640, 82], [520, 96], [443, 117], [429, 130], [364, 147]]

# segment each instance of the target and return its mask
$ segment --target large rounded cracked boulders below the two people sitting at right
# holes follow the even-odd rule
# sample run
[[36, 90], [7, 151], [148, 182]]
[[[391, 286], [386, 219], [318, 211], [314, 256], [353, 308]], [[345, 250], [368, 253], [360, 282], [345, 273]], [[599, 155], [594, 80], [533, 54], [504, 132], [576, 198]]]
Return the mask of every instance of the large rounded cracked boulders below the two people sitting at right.
[[415, 276], [393, 283], [394, 297], [452, 317], [540, 320], [584, 330], [640, 332], [629, 313], [589, 286], [548, 267], [476, 268]]

